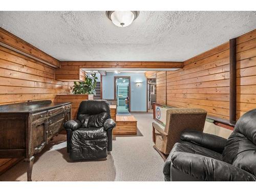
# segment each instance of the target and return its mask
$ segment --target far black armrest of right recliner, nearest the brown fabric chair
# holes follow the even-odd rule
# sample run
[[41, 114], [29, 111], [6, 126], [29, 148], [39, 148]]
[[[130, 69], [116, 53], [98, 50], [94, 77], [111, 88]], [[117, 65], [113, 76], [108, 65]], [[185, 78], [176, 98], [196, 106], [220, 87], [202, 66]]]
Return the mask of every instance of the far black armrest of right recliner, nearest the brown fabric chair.
[[184, 130], [181, 133], [180, 139], [195, 143], [218, 153], [223, 152], [227, 142], [226, 139], [217, 135], [211, 135], [195, 130]]

